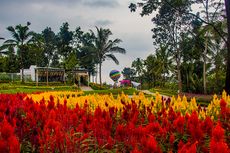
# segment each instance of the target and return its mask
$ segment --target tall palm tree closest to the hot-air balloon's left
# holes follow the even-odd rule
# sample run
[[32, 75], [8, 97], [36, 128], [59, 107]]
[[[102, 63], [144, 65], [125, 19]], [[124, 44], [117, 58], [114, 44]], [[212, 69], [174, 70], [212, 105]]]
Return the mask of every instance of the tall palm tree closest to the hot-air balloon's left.
[[98, 28], [97, 29], [97, 35], [95, 39], [95, 57], [98, 59], [99, 64], [99, 76], [100, 76], [100, 86], [102, 85], [101, 82], [101, 66], [103, 61], [105, 61], [107, 58], [112, 59], [116, 64], [119, 64], [119, 61], [114, 56], [113, 53], [121, 53], [125, 54], [126, 51], [124, 48], [121, 48], [117, 46], [119, 43], [121, 43], [121, 39], [114, 39], [110, 40], [109, 36], [112, 35], [112, 32], [109, 29], [103, 29]]

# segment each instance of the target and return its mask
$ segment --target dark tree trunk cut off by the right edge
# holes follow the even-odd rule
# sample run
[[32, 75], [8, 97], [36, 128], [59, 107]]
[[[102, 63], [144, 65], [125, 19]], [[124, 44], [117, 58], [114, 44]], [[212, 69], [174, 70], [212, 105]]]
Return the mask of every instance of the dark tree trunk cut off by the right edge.
[[228, 40], [227, 40], [227, 72], [225, 81], [225, 90], [230, 94], [230, 0], [225, 0], [225, 9], [227, 14]]

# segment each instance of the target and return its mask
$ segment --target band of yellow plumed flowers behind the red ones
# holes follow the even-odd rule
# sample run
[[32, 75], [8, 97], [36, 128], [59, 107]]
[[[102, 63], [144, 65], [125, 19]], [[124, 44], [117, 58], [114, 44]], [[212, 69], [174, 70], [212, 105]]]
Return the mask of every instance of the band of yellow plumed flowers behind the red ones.
[[[198, 105], [195, 98], [192, 98], [189, 102], [185, 96], [183, 96], [182, 99], [180, 96], [178, 96], [177, 99], [173, 96], [170, 104], [166, 104], [166, 101], [162, 102], [162, 96], [159, 93], [156, 93], [155, 99], [146, 98], [142, 92], [140, 92], [138, 95], [133, 94], [132, 96], [121, 93], [117, 96], [117, 98], [114, 98], [112, 94], [92, 94], [83, 96], [83, 92], [81, 91], [57, 91], [27, 95], [28, 98], [32, 98], [36, 102], [44, 99], [46, 104], [50, 101], [50, 96], [53, 97], [55, 103], [59, 102], [60, 104], [64, 104], [64, 101], [66, 100], [67, 107], [69, 108], [75, 108], [76, 105], [79, 105], [79, 107], [84, 107], [85, 103], [87, 102], [87, 105], [90, 109], [89, 111], [94, 111], [97, 107], [107, 111], [109, 107], [115, 107], [118, 110], [123, 110], [124, 103], [131, 104], [132, 102], [135, 102], [137, 106], [139, 106], [139, 109], [148, 107], [151, 108], [152, 113], [159, 112], [163, 107], [166, 109], [166, 113], [169, 112], [170, 107], [172, 107], [175, 112], [181, 112], [182, 115], [187, 113], [191, 114], [193, 111], [196, 111], [201, 119], [205, 119], [206, 116], [210, 116], [212, 119], [217, 119], [217, 116], [220, 113], [220, 99], [218, 99], [217, 95], [213, 96], [213, 100], [206, 107], [206, 111], [204, 111], [203, 108], [198, 110]], [[227, 102], [227, 107], [230, 107], [230, 97], [227, 96], [226, 92], [223, 92], [222, 98]]]

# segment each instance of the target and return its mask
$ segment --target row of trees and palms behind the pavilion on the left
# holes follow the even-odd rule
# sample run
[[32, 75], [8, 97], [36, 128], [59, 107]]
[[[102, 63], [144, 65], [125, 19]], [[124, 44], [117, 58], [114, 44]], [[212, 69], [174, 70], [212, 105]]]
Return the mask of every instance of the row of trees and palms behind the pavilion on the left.
[[81, 27], [76, 27], [71, 31], [68, 22], [65, 22], [58, 33], [51, 27], [36, 33], [30, 30], [30, 24], [27, 22], [26, 25], [7, 27], [11, 38], [0, 46], [0, 72], [18, 72], [22, 69], [22, 82], [23, 70], [30, 65], [47, 67], [47, 70], [48, 67], [64, 68], [66, 71], [85, 68], [89, 75], [95, 75], [98, 66], [102, 84], [103, 61], [109, 58], [119, 64], [114, 53], [126, 53], [126, 50], [119, 46], [121, 39], [110, 39], [110, 29], [96, 27], [96, 32], [84, 32]]

